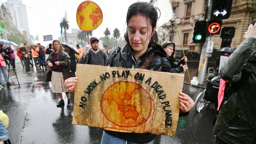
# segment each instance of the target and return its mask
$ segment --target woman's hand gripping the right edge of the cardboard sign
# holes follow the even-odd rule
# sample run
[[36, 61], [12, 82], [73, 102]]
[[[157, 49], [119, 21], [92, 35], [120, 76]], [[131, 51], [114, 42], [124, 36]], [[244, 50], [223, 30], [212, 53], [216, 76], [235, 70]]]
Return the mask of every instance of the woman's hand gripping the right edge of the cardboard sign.
[[188, 112], [195, 105], [195, 102], [187, 94], [180, 92], [180, 111], [182, 113]]

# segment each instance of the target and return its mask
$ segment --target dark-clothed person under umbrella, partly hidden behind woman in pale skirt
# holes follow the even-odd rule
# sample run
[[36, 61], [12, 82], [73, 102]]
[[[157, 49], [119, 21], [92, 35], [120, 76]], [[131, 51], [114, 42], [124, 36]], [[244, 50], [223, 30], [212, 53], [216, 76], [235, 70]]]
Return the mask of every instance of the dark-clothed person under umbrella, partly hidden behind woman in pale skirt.
[[72, 71], [72, 77], [75, 77], [76, 76], [76, 62], [77, 62], [75, 52], [74, 52], [74, 50], [72, 50], [71, 48], [69, 48], [66, 45], [64, 46], [64, 48], [65, 48], [64, 51], [70, 57], [70, 68], [71, 68], [71, 71]]

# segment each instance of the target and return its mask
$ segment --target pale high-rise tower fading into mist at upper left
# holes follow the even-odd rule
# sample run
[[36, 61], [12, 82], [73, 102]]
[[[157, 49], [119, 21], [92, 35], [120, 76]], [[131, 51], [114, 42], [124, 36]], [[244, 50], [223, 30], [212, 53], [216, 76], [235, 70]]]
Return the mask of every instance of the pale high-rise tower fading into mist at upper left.
[[28, 26], [28, 14], [26, 5], [21, 0], [8, 0], [5, 6], [11, 13], [13, 25], [30, 40], [30, 31]]

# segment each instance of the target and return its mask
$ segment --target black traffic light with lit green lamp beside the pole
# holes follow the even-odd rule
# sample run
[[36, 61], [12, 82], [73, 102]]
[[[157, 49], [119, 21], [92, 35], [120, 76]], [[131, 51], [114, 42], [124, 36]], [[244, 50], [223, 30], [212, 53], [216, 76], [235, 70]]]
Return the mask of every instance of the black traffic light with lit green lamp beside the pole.
[[193, 42], [195, 43], [203, 43], [206, 39], [206, 26], [207, 22], [204, 21], [197, 21], [194, 28], [194, 36]]

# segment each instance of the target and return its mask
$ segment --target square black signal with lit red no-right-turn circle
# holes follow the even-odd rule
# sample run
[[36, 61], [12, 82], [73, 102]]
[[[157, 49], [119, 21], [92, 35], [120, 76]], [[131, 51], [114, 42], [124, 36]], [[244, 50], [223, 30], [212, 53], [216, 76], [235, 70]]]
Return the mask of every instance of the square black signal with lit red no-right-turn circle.
[[208, 22], [207, 33], [208, 35], [218, 35], [221, 32], [221, 20], [210, 20]]

